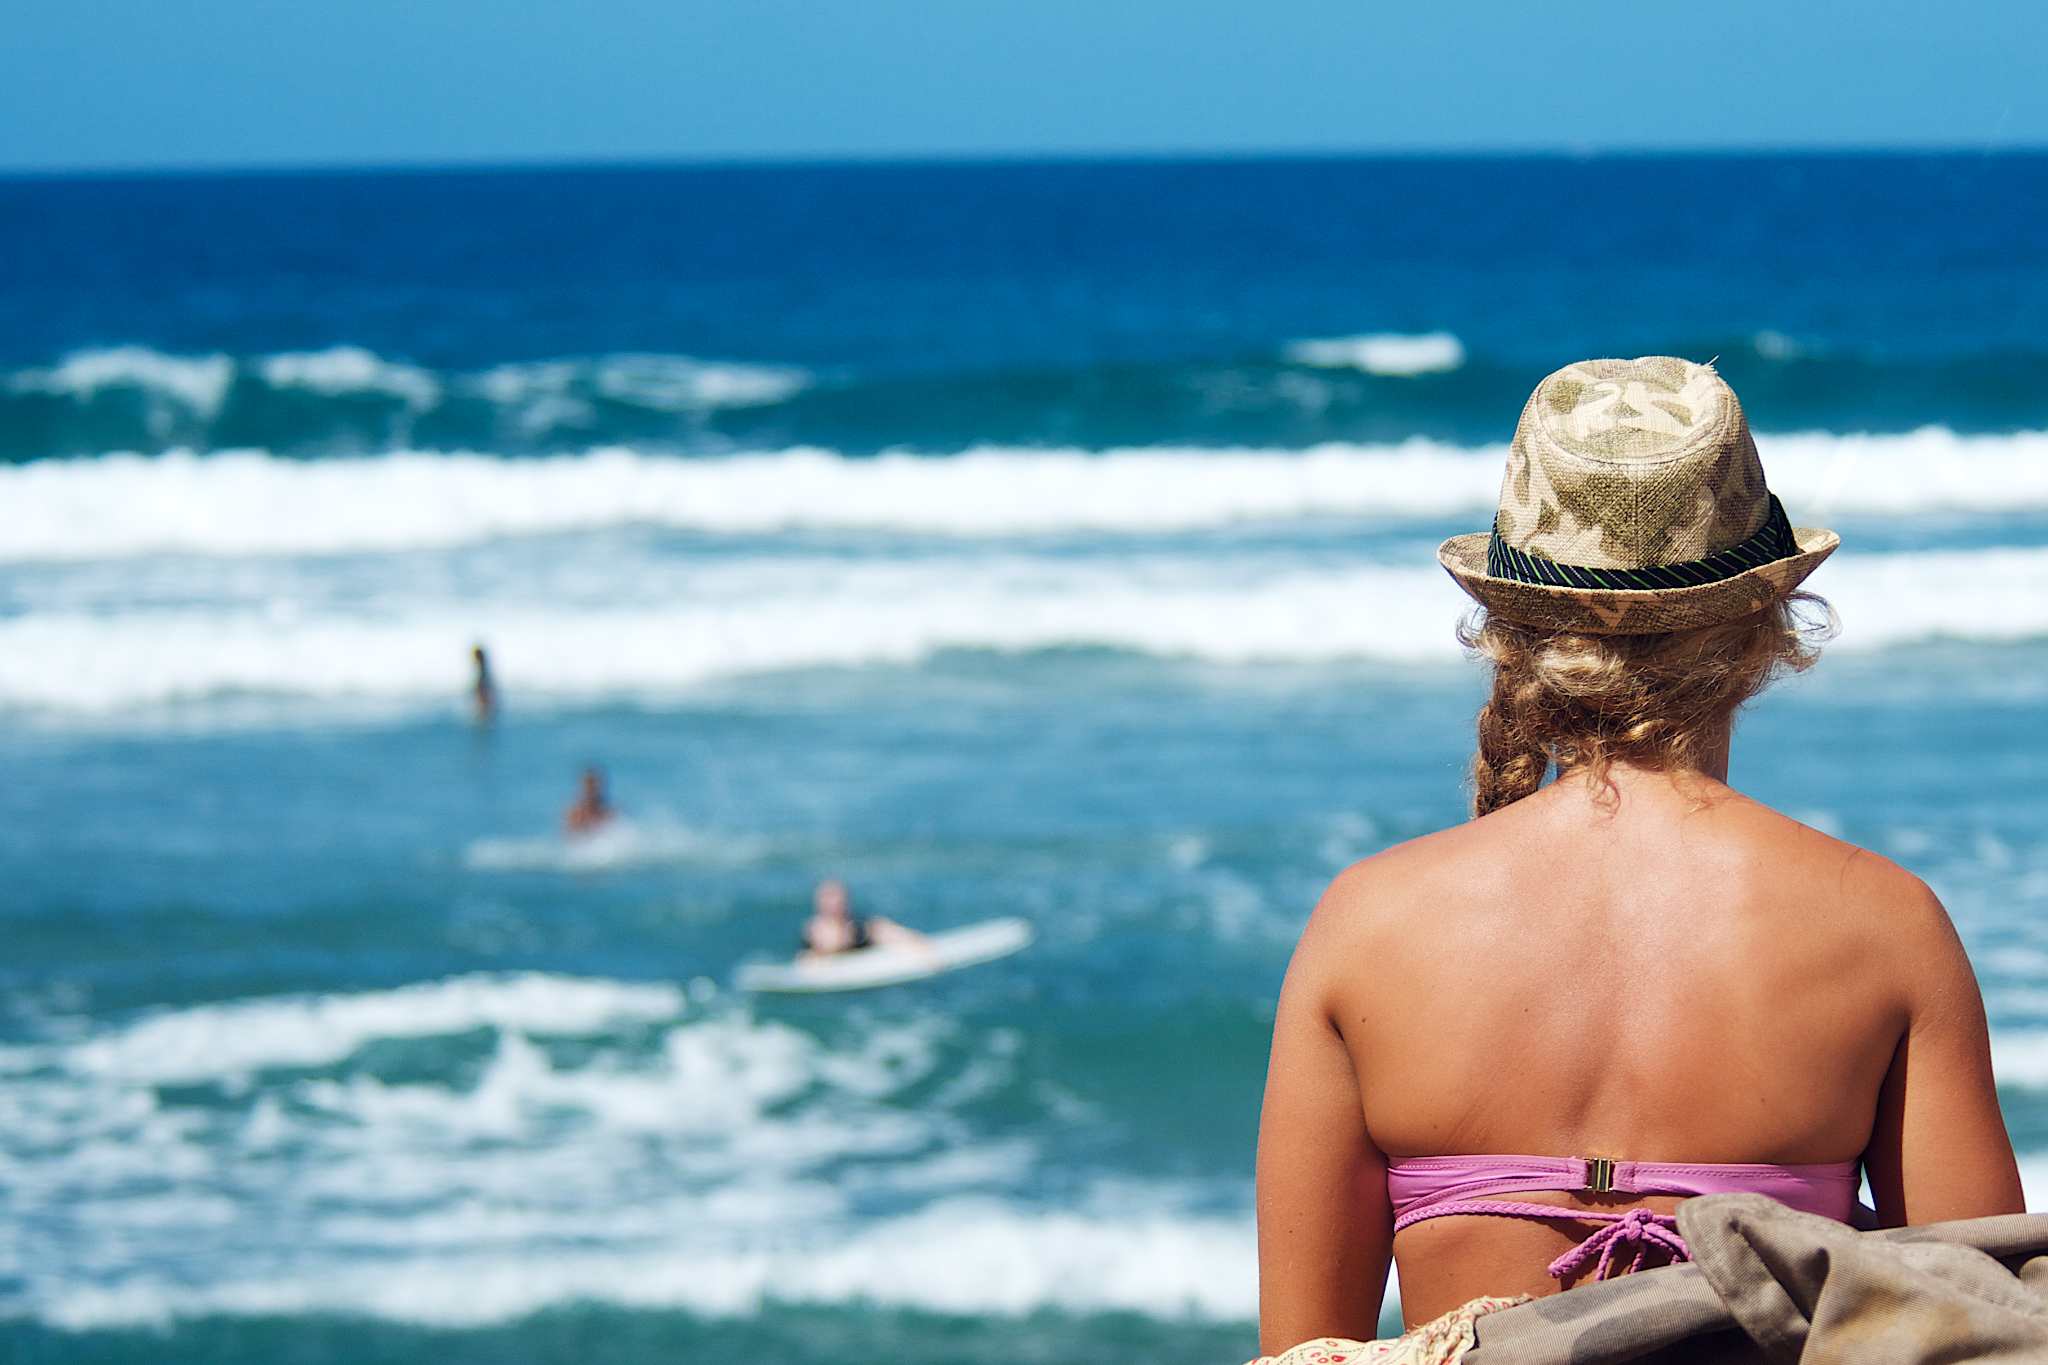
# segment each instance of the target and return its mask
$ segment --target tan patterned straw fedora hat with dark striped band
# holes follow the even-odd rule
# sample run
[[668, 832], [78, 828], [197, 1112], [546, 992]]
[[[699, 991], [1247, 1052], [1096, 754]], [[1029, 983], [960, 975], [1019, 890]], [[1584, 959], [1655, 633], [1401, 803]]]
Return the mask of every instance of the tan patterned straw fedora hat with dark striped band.
[[1452, 536], [1436, 557], [1495, 616], [1655, 634], [1749, 616], [1837, 544], [1786, 520], [1710, 364], [1642, 356], [1581, 360], [1536, 385], [1493, 532]]

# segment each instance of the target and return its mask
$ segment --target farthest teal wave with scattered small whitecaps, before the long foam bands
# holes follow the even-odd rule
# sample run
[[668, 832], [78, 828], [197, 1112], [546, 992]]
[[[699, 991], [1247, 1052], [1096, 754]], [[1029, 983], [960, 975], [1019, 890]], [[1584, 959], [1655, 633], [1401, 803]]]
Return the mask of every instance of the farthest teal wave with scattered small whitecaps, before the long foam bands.
[[[1911, 432], [2042, 426], [2048, 356], [1939, 362], [1815, 350], [1759, 332], [1671, 354], [1729, 360], [1767, 430]], [[1083, 448], [1450, 444], [1505, 438], [1540, 372], [1452, 332], [1298, 338], [1210, 356], [944, 360], [811, 368], [659, 352], [477, 358], [467, 366], [336, 344], [279, 354], [100, 346], [0, 372], [0, 465], [106, 450], [270, 450], [293, 458], [393, 450], [565, 454], [643, 446], [690, 454], [819, 446], [950, 452], [977, 442]]]

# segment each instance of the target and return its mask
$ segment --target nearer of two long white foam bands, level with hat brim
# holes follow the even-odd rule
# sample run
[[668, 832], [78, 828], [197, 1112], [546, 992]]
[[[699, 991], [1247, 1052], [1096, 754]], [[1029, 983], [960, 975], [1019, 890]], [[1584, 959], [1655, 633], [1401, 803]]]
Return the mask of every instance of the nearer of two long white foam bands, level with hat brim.
[[[1413, 546], [1401, 565], [1200, 551], [1145, 559], [940, 555], [834, 561], [514, 563], [487, 593], [340, 591], [274, 604], [82, 604], [0, 618], [0, 706], [121, 712], [260, 694], [444, 704], [487, 639], [522, 696], [664, 698], [709, 679], [915, 665], [940, 651], [1094, 647], [1169, 659], [1452, 663], [1468, 602]], [[1839, 557], [1817, 583], [1835, 649], [2048, 636], [2048, 548]], [[442, 589], [444, 593], [451, 589]], [[494, 860], [530, 849], [489, 847]]]

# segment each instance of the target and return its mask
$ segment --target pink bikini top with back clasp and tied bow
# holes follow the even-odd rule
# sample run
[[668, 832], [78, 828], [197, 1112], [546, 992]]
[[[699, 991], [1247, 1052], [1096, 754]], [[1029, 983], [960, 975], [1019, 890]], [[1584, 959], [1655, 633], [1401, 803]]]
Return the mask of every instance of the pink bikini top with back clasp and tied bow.
[[1812, 1166], [1694, 1166], [1661, 1160], [1608, 1160], [1606, 1156], [1411, 1156], [1386, 1162], [1386, 1195], [1395, 1205], [1395, 1232], [1427, 1218], [1483, 1214], [1489, 1218], [1554, 1218], [1604, 1224], [1550, 1263], [1550, 1275], [1579, 1275], [1597, 1259], [1593, 1279], [1606, 1279], [1620, 1252], [1632, 1250], [1630, 1271], [1642, 1269], [1653, 1246], [1671, 1261], [1690, 1261], [1677, 1220], [1651, 1209], [1610, 1214], [1550, 1203], [1522, 1203], [1487, 1195], [1563, 1189], [1620, 1195], [1726, 1195], [1751, 1191], [1769, 1195], [1804, 1214], [1835, 1222], [1858, 1222], [1858, 1162], [1839, 1160]]

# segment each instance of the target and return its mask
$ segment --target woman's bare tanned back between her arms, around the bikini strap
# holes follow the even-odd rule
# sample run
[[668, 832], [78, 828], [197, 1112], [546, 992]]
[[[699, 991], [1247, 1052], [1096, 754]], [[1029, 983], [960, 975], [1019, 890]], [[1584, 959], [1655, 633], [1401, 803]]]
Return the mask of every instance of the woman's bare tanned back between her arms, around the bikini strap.
[[[1655, 1162], [1853, 1162], [1960, 950], [1917, 878], [1706, 778], [1616, 772], [1389, 849], [1311, 952], [1372, 1146]], [[1966, 970], [1966, 968], [1964, 968]], [[1675, 1199], [1518, 1193], [1593, 1209]], [[1589, 1232], [1448, 1218], [1395, 1240], [1411, 1320], [1538, 1293]]]

